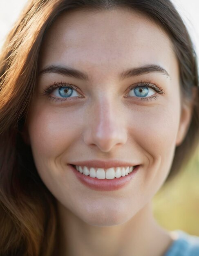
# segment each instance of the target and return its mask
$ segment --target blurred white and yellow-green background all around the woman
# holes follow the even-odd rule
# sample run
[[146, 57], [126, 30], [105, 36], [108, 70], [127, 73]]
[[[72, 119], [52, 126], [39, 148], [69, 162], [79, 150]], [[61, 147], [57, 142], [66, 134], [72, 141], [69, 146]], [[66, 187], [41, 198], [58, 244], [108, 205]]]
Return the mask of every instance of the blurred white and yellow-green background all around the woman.
[[[172, 0], [181, 14], [199, 56], [199, 1]], [[0, 49], [27, 0], [0, 0]], [[181, 173], [153, 199], [157, 222], [165, 229], [181, 229], [199, 236], [199, 150]]]

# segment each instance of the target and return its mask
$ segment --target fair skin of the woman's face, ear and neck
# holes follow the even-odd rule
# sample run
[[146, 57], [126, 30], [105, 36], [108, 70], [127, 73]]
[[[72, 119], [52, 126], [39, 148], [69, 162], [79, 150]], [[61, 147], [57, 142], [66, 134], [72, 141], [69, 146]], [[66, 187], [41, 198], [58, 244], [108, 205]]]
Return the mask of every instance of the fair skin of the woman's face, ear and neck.
[[[154, 220], [151, 201], [168, 176], [192, 111], [180, 97], [170, 38], [157, 24], [125, 9], [73, 11], [49, 29], [39, 65], [40, 70], [67, 65], [88, 76], [85, 81], [40, 75], [27, 120], [36, 168], [58, 203], [57, 255], [162, 256], [173, 238]], [[159, 65], [168, 74], [119, 77], [144, 65]], [[153, 87], [145, 99], [134, 96], [129, 88], [141, 81], [163, 93]], [[78, 89], [69, 101], [61, 100], [66, 98], [58, 89], [44, 95], [54, 82]], [[95, 191], [67, 166], [92, 159], [136, 162], [140, 168], [125, 187]]]

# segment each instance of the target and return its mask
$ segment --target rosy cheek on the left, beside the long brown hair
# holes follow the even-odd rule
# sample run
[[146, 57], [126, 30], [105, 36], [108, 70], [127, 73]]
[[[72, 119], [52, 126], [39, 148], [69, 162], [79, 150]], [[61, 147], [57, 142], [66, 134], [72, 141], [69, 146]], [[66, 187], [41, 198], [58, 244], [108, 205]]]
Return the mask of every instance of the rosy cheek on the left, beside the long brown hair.
[[30, 112], [28, 132], [35, 162], [53, 162], [72, 146], [82, 129], [79, 114], [49, 106]]

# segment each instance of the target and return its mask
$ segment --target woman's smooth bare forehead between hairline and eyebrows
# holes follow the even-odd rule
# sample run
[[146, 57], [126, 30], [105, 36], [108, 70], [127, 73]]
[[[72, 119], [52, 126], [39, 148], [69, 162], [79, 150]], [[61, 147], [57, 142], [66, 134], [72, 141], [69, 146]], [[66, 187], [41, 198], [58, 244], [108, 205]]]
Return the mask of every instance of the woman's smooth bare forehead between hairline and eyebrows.
[[170, 38], [142, 14], [121, 8], [63, 13], [47, 32], [40, 53], [41, 68], [63, 64], [96, 74], [150, 63], [177, 72]]

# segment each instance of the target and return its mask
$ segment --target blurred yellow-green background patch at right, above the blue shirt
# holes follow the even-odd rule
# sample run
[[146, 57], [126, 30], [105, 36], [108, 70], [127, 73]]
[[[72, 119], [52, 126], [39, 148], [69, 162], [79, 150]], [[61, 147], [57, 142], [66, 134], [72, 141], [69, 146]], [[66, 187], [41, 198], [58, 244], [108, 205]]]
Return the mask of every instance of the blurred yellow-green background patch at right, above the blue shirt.
[[165, 229], [199, 236], [199, 150], [189, 164], [153, 198], [153, 212]]

